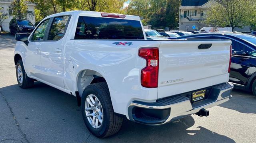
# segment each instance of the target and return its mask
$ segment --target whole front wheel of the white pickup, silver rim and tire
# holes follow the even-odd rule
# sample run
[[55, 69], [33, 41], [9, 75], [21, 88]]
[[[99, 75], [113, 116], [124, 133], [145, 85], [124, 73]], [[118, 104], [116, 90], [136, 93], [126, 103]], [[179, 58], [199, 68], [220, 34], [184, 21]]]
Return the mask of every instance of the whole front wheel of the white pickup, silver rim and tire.
[[30, 88], [34, 85], [34, 80], [29, 78], [24, 70], [22, 60], [19, 60], [16, 64], [16, 78], [21, 88]]

